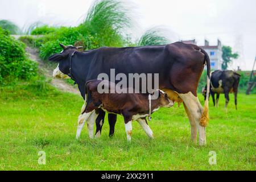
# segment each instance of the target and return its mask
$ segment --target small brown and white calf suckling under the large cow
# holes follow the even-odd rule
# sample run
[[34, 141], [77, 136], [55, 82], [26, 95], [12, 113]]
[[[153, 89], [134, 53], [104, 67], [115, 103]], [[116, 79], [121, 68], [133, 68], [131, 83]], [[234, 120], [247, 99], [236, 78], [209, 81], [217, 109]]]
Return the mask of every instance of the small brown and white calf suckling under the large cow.
[[[108, 93], [98, 92], [100, 83], [108, 88]], [[79, 125], [83, 126], [93, 111], [101, 108], [108, 113], [123, 116], [127, 140], [131, 140], [132, 121], [138, 121], [147, 136], [153, 138], [153, 133], [147, 124], [146, 117], [160, 107], [173, 106], [174, 102], [169, 100], [167, 94], [162, 90], [156, 90], [155, 92], [158, 93], [153, 94], [158, 97], [149, 102], [147, 94], [111, 92], [110, 90], [115, 88], [111, 87], [111, 84], [114, 85], [114, 83], [106, 80], [91, 80], [86, 83], [87, 103], [84, 111], [79, 116]]]

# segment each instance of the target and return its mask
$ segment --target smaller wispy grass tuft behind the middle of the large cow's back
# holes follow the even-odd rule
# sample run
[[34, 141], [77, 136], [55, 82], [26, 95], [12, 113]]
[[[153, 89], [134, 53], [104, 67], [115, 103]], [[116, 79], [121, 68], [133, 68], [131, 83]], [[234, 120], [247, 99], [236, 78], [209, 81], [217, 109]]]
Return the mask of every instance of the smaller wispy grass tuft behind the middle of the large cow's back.
[[144, 32], [138, 40], [138, 46], [158, 46], [167, 44], [169, 40], [164, 36], [163, 29], [160, 27], [153, 27]]

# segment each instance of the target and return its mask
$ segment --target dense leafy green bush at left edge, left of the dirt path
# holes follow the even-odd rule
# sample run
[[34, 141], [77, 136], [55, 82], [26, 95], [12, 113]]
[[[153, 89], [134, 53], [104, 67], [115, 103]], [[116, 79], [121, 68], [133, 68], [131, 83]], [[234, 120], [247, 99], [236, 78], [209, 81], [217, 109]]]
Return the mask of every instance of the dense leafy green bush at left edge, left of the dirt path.
[[27, 58], [24, 48], [24, 43], [0, 28], [0, 84], [9, 78], [29, 80], [36, 75], [37, 64]]

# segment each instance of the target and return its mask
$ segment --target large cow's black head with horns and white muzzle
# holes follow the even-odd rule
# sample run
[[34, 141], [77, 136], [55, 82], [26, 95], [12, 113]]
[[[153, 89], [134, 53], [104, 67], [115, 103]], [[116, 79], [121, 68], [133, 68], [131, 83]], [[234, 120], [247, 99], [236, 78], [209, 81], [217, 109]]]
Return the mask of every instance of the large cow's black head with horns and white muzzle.
[[55, 53], [52, 56], [49, 56], [48, 60], [59, 63], [57, 67], [53, 70], [53, 77], [56, 78], [69, 78], [68, 73], [69, 73], [69, 59], [70, 56], [74, 51], [77, 51], [79, 48], [82, 48], [81, 46], [75, 47], [75, 46], [64, 46], [63, 44], [60, 43], [60, 47], [63, 48], [63, 51], [60, 53]]

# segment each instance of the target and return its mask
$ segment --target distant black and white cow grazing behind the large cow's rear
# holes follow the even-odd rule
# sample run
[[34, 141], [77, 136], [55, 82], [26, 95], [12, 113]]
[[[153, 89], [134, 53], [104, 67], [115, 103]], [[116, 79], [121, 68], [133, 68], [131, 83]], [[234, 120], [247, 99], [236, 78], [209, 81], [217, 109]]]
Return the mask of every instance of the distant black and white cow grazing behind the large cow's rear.
[[[220, 94], [224, 93], [226, 98], [226, 105], [229, 103], [229, 93], [234, 93], [234, 101], [237, 109], [237, 92], [238, 85], [240, 81], [240, 74], [229, 71], [229, 70], [216, 70], [212, 72], [210, 76], [210, 95], [212, 96], [213, 105], [218, 107], [218, 100], [220, 98]], [[206, 99], [206, 87], [203, 90], [204, 98]], [[216, 104], [215, 104], [215, 94], [216, 96]]]

